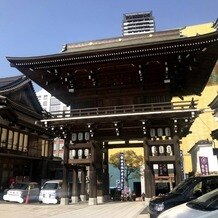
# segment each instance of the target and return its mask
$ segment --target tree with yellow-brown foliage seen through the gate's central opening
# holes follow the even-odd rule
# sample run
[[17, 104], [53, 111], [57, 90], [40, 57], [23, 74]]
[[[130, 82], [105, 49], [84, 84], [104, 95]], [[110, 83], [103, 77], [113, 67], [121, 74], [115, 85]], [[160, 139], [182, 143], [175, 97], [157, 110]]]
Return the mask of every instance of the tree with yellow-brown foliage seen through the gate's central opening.
[[[120, 170], [120, 153], [116, 152], [110, 156], [109, 163]], [[127, 150], [124, 153], [125, 159], [125, 181], [129, 187], [130, 179], [140, 178], [140, 166], [143, 164], [143, 156], [137, 155], [133, 150]]]

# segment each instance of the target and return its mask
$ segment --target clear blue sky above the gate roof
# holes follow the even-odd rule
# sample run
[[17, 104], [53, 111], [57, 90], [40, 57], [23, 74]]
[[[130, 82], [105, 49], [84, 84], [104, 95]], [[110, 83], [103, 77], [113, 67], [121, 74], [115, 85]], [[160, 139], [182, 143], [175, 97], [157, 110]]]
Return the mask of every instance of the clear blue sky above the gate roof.
[[218, 0], [0, 0], [0, 77], [6, 56], [59, 53], [66, 43], [122, 35], [124, 13], [152, 11], [156, 30], [213, 22]]

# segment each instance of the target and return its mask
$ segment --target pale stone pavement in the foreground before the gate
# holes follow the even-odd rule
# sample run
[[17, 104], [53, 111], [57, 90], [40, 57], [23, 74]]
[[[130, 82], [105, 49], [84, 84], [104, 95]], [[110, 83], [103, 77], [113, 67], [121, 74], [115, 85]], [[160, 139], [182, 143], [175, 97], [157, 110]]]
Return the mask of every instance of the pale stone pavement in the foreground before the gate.
[[146, 207], [146, 201], [107, 202], [93, 206], [87, 203], [45, 205], [0, 201], [0, 215], [3, 218], [149, 218]]

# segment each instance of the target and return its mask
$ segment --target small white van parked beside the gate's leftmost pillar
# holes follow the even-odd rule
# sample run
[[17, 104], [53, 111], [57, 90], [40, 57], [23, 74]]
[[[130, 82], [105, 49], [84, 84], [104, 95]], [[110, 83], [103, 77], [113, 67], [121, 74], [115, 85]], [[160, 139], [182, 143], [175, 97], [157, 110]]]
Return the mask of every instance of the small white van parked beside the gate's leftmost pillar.
[[39, 194], [39, 202], [57, 204], [61, 199], [62, 180], [49, 180], [44, 183]]

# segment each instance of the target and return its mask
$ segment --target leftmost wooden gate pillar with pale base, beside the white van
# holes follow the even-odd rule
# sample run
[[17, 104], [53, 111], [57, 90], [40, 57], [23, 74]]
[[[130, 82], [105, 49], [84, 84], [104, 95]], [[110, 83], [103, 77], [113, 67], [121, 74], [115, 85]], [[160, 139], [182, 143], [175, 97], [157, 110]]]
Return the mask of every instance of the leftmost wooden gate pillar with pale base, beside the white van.
[[69, 204], [68, 198], [68, 159], [69, 159], [69, 141], [65, 140], [64, 142], [64, 164], [63, 164], [63, 184], [62, 184], [62, 195], [61, 195], [61, 204]]

